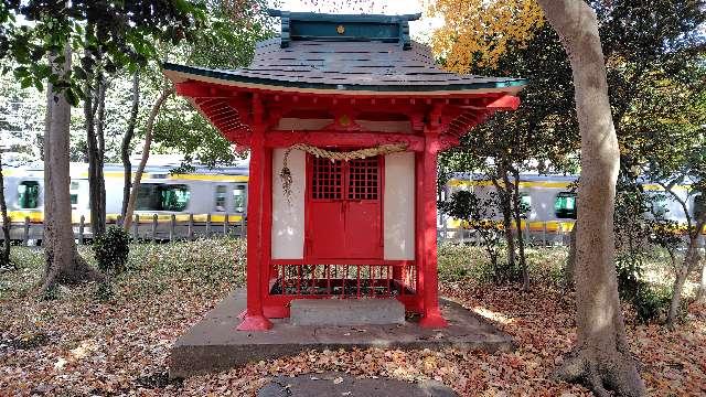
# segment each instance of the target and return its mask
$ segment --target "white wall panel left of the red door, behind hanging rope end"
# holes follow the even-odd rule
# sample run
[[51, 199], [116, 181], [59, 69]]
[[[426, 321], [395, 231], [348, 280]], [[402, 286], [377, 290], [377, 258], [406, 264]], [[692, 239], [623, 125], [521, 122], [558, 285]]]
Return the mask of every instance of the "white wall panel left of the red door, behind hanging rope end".
[[272, 259], [302, 259], [304, 253], [304, 187], [307, 157], [292, 150], [287, 159], [292, 186], [287, 201], [279, 176], [286, 149], [272, 153]]

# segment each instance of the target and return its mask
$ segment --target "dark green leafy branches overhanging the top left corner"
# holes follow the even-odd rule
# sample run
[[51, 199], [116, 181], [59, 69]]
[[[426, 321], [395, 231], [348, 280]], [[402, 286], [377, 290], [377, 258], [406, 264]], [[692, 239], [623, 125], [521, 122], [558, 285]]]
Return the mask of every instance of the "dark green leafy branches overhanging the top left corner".
[[[0, 6], [0, 58], [11, 58], [3, 73], [13, 72], [22, 87], [43, 89], [52, 83], [72, 105], [85, 94], [82, 83], [100, 65], [108, 74], [145, 66], [154, 58], [157, 43], [193, 40], [205, 19], [202, 1], [6, 1]], [[17, 23], [20, 15], [29, 23]], [[42, 60], [65, 50], [84, 50], [81, 63], [67, 75]]]

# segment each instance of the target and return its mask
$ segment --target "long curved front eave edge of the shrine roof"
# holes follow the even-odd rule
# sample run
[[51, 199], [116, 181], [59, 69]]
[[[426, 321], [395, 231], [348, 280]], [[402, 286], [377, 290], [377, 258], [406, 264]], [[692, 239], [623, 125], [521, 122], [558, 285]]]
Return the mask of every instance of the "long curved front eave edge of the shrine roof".
[[386, 84], [386, 85], [363, 85], [363, 84], [328, 84], [308, 83], [297, 81], [279, 81], [261, 77], [247, 77], [233, 73], [191, 67], [185, 65], [165, 63], [164, 74], [174, 83], [186, 81], [200, 81], [215, 83], [245, 89], [276, 90], [276, 92], [298, 92], [322, 95], [417, 95], [417, 96], [449, 96], [463, 94], [482, 93], [505, 93], [516, 94], [526, 84], [524, 78], [507, 78], [498, 82], [478, 83], [445, 83], [434, 85], [410, 85], [410, 84]]

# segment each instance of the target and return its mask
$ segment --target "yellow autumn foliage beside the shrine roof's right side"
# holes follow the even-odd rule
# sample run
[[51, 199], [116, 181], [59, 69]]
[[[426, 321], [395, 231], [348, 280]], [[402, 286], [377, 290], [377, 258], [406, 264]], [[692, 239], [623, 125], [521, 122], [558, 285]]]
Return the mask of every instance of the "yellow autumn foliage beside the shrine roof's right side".
[[445, 21], [431, 47], [457, 73], [496, 66], [510, 45], [524, 45], [544, 24], [535, 0], [431, 0], [429, 14]]

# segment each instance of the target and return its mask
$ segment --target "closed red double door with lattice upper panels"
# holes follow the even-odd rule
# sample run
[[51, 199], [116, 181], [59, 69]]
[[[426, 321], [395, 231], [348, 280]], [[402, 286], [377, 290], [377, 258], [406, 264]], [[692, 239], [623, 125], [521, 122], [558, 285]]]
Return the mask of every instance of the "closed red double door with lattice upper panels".
[[382, 259], [381, 158], [309, 164], [308, 259]]

